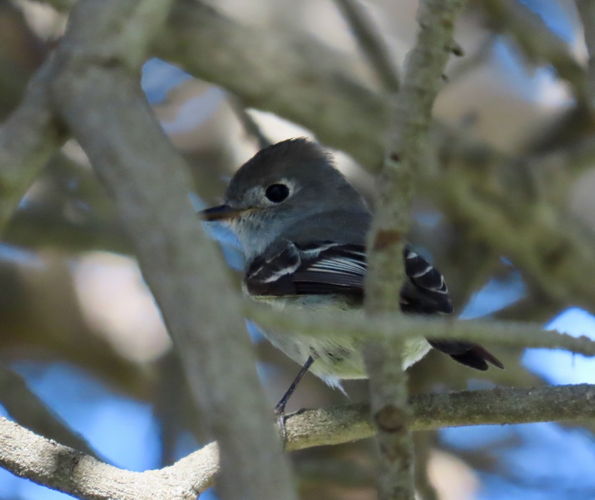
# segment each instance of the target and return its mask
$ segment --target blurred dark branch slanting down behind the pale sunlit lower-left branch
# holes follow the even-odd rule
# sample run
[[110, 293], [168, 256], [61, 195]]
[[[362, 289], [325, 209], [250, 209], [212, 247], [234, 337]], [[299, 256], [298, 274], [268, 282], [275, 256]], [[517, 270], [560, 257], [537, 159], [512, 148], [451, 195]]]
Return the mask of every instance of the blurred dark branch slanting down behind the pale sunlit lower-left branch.
[[20, 375], [4, 366], [0, 366], [0, 402], [27, 429], [102, 460], [83, 436], [70, 429], [27, 387]]

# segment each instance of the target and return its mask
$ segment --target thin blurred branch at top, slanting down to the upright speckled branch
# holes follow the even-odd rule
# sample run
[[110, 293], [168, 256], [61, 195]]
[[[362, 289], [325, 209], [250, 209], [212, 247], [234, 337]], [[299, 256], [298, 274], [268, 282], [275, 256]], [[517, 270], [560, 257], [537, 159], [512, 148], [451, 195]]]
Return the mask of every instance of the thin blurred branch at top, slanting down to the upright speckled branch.
[[356, 37], [359, 48], [369, 59], [372, 68], [388, 92], [399, 90], [399, 70], [394, 64], [386, 40], [360, 0], [335, 0]]

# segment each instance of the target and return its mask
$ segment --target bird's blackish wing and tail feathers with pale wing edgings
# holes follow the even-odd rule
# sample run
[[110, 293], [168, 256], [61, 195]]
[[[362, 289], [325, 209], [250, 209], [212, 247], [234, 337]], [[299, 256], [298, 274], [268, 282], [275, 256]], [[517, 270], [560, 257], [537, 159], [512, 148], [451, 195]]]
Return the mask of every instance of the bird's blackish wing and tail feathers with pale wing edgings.
[[[452, 313], [453, 307], [441, 273], [424, 257], [407, 247], [403, 257], [407, 275], [400, 293], [403, 312]], [[280, 240], [250, 263], [244, 281], [252, 295], [281, 297], [336, 294], [361, 301], [366, 270], [364, 245], [320, 241], [304, 246]], [[466, 366], [487, 370], [489, 362], [503, 368], [496, 357], [479, 345], [428, 341], [437, 350]]]

